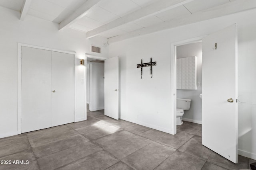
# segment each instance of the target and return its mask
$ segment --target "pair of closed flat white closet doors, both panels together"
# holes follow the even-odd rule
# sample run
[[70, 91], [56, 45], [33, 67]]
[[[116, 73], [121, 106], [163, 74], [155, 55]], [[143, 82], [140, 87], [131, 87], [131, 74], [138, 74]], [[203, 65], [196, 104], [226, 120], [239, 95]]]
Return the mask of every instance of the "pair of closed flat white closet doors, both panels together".
[[22, 47], [22, 133], [74, 122], [74, 55]]

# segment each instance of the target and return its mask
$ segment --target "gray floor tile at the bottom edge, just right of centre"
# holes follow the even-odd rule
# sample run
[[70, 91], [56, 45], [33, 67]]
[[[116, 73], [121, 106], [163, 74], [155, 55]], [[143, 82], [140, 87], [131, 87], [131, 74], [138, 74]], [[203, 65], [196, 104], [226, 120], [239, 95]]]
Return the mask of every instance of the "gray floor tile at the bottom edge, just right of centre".
[[160, 143], [153, 142], [125, 157], [122, 161], [134, 169], [152, 170], [168, 158], [175, 150]]

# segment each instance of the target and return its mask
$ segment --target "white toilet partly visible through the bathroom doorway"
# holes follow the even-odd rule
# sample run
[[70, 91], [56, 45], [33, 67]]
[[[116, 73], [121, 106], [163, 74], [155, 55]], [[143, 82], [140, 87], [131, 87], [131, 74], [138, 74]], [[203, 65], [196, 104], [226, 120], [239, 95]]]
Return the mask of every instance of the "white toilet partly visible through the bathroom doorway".
[[182, 116], [184, 115], [184, 110], [189, 110], [191, 104], [191, 99], [181, 99], [177, 98], [177, 125], [182, 125]]

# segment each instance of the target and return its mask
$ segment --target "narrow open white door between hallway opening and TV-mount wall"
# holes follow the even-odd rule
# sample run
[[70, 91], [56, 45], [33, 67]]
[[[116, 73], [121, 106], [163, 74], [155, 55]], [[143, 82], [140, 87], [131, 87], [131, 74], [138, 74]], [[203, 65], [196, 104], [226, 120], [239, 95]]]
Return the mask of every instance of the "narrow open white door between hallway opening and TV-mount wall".
[[119, 118], [118, 114], [118, 81], [119, 81], [119, 63], [118, 57], [112, 57], [105, 60], [105, 81], [104, 81], [104, 108], [105, 115], [114, 119]]

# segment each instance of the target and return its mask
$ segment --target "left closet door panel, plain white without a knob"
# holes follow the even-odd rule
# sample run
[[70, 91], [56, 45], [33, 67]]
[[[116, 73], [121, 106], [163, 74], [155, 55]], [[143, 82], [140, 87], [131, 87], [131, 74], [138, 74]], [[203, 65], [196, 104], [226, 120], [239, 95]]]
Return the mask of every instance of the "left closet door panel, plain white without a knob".
[[21, 132], [51, 127], [51, 51], [22, 47], [21, 62]]

